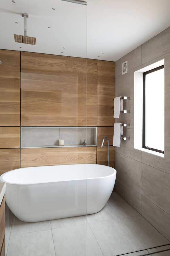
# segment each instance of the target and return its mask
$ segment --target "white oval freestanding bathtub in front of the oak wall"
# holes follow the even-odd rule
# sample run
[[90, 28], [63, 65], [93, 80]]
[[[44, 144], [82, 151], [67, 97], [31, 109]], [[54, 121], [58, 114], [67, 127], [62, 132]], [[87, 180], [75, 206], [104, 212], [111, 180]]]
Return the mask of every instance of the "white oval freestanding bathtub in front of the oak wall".
[[99, 212], [116, 179], [99, 164], [27, 167], [5, 172], [5, 201], [22, 221], [37, 222]]

